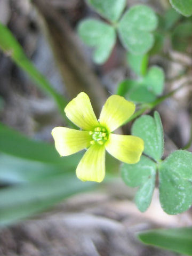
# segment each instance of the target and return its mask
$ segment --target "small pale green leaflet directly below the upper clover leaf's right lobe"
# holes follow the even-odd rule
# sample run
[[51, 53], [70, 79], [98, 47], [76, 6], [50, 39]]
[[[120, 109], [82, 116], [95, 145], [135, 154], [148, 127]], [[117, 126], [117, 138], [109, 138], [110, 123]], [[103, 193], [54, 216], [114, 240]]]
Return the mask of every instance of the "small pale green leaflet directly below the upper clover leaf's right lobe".
[[148, 66], [148, 55], [135, 55], [127, 53], [127, 62], [130, 68], [138, 75], [145, 76]]

